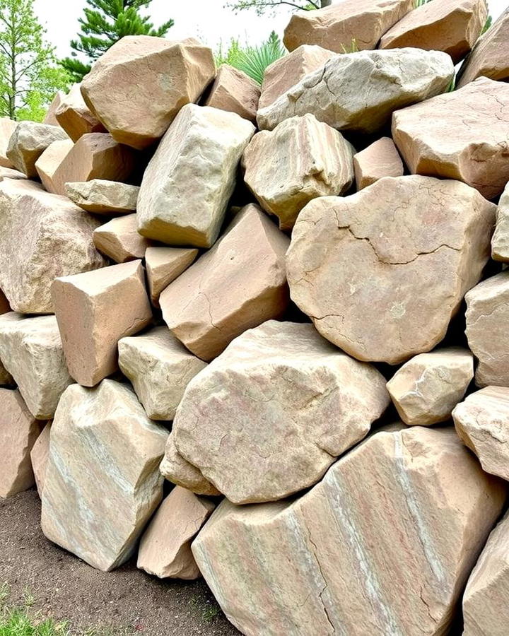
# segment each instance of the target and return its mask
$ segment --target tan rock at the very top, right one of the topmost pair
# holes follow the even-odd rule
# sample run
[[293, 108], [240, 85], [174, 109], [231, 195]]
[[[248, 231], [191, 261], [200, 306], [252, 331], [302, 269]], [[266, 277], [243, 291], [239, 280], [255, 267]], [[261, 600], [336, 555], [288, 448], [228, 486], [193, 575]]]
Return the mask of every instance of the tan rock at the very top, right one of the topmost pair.
[[476, 43], [487, 17], [486, 0], [433, 0], [382, 35], [380, 49], [443, 51], [457, 64]]

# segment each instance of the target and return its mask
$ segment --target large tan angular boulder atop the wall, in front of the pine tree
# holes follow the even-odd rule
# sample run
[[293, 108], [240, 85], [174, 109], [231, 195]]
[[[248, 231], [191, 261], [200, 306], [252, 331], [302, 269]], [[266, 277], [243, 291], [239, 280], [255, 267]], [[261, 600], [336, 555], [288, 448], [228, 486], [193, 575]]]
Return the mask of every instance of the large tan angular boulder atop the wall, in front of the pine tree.
[[165, 134], [215, 75], [212, 51], [198, 40], [128, 36], [95, 62], [81, 93], [116, 141], [143, 149]]

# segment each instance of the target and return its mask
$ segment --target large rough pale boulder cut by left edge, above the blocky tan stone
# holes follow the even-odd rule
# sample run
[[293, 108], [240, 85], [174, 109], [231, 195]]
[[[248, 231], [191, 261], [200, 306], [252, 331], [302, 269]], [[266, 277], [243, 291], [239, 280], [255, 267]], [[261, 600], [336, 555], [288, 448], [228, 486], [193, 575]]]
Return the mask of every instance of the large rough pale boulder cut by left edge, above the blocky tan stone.
[[51, 313], [54, 278], [103, 267], [92, 242], [98, 225], [69, 199], [33, 182], [1, 182], [0, 288], [13, 310]]

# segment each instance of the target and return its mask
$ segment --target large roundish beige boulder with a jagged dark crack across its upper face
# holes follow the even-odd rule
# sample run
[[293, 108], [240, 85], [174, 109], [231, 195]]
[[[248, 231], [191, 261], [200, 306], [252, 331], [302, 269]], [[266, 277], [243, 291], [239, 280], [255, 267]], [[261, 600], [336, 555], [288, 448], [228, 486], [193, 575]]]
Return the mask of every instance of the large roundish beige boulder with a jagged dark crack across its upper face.
[[315, 199], [293, 228], [291, 298], [359, 360], [431, 351], [481, 278], [495, 211], [465, 184], [419, 176]]

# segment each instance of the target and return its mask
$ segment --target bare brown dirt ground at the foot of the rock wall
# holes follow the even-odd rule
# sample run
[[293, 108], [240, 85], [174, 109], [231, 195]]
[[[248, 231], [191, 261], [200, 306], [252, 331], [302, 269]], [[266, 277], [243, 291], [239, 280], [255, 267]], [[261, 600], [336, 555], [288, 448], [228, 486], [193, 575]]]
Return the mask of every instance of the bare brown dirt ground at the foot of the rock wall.
[[240, 633], [228, 623], [203, 579], [163, 582], [132, 562], [114, 572], [98, 572], [49, 543], [40, 531], [35, 490], [0, 500], [0, 585], [3, 582], [11, 587], [9, 603], [22, 604], [31, 596], [33, 611], [69, 620], [73, 635], [87, 630], [94, 636]]

